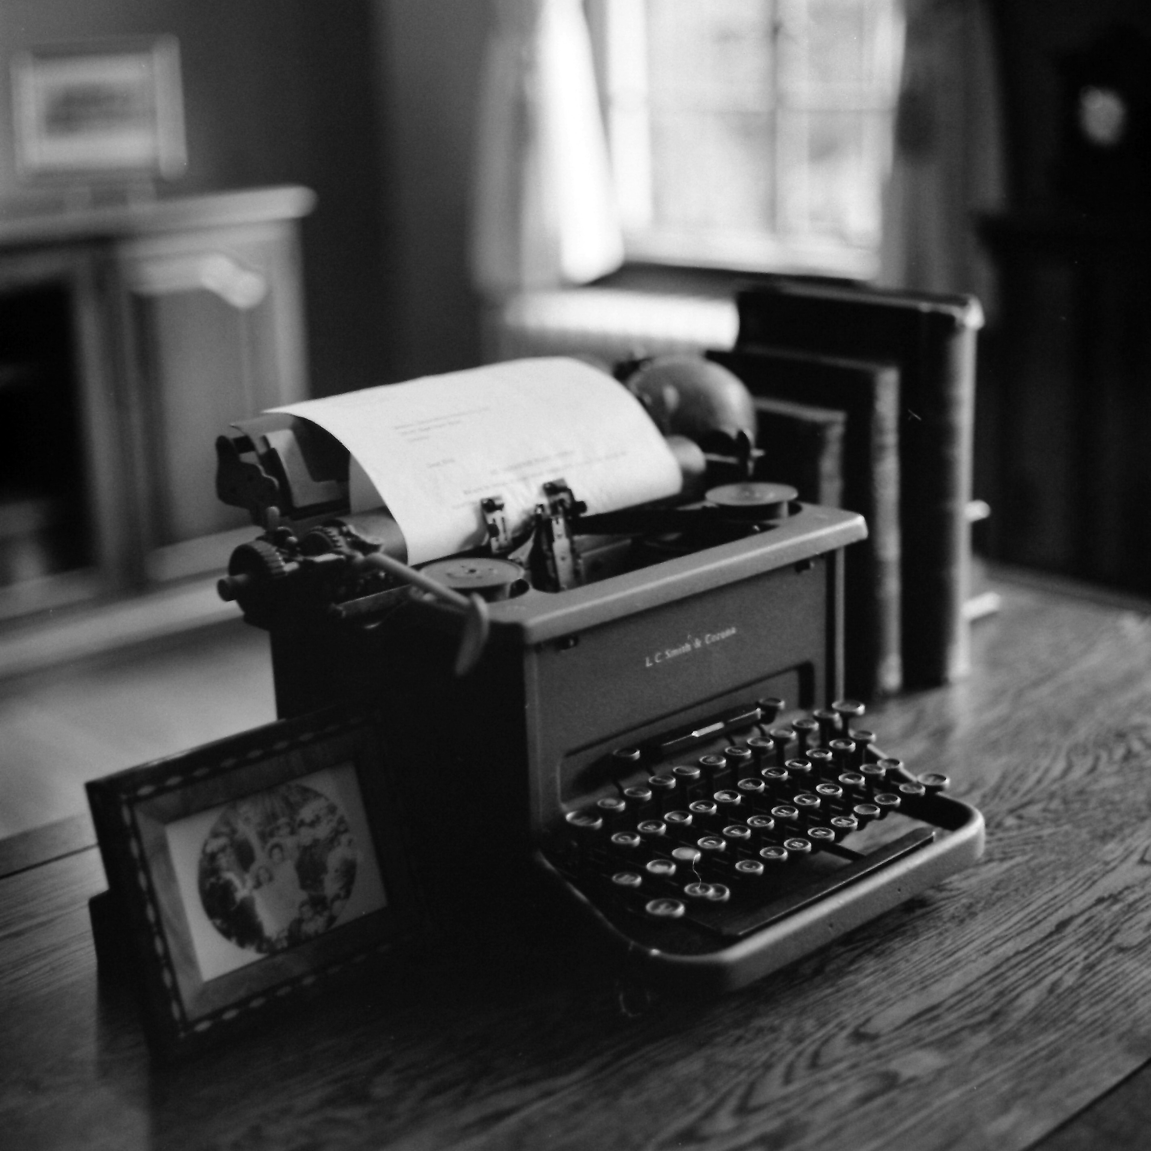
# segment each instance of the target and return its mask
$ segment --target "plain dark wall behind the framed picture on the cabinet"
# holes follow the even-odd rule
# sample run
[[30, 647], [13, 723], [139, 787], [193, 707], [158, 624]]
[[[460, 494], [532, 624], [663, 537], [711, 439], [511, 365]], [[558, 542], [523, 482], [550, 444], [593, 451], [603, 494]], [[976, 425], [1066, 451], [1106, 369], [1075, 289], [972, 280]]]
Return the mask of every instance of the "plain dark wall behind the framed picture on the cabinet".
[[[180, 40], [189, 166], [166, 192], [299, 183], [312, 386], [379, 382], [390, 359], [369, 0], [3, 0], [0, 59], [58, 40]], [[6, 71], [6, 69], [3, 69]], [[0, 83], [0, 197], [22, 195]]]

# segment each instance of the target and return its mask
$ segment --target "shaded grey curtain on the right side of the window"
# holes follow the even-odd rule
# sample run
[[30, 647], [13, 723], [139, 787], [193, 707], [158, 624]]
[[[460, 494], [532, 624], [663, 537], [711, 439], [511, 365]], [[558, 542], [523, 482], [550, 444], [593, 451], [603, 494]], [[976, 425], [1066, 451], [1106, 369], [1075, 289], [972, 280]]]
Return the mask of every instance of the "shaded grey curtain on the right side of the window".
[[996, 45], [984, 0], [905, 0], [895, 154], [884, 197], [881, 283], [974, 292], [994, 311], [975, 216], [1004, 203]]

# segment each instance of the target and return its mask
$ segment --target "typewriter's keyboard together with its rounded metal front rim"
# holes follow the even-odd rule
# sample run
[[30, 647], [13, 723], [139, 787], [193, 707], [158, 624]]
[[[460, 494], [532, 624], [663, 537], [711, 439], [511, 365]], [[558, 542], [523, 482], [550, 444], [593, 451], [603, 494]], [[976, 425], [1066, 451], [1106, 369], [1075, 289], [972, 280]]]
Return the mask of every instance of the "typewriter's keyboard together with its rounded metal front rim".
[[[822, 729], [803, 716], [767, 739], [754, 706], [734, 738], [717, 717], [729, 745], [704, 747], [698, 761], [733, 763], [740, 779], [666, 810], [656, 828], [634, 802], [647, 788], [620, 777], [623, 807], [597, 801], [615, 811], [611, 828], [594, 821], [594, 806], [574, 807], [538, 862], [654, 982], [707, 991], [742, 986], [975, 862], [983, 818], [943, 793], [946, 778], [915, 777], [885, 757], [854, 726], [862, 706], [838, 701], [831, 714]], [[670, 785], [693, 770], [680, 762], [683, 738], [649, 745], [671, 752], [658, 764], [649, 753], [649, 782]]]

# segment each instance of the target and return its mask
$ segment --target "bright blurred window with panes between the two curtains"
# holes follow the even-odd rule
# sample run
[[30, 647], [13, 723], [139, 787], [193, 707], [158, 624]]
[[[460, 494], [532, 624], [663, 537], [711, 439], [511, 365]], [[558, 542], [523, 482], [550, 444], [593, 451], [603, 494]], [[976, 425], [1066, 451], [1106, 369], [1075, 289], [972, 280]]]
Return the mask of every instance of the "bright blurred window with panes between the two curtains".
[[877, 270], [899, 0], [599, 0], [628, 257]]

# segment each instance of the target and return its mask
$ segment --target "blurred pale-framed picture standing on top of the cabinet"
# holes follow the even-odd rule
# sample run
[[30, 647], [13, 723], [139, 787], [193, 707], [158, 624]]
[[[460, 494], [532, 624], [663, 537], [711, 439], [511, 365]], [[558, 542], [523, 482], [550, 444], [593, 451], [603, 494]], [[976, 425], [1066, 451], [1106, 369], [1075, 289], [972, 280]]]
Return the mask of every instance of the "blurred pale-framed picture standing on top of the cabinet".
[[25, 178], [170, 178], [186, 162], [173, 37], [48, 45], [12, 64]]

